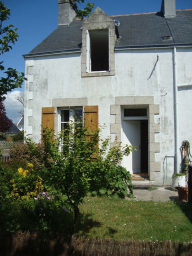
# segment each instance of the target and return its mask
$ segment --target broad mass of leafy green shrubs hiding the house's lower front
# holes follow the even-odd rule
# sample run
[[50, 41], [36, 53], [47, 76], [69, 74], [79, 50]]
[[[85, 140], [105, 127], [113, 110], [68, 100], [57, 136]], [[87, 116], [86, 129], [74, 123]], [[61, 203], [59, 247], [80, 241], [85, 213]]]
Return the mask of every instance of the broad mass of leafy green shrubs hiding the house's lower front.
[[[54, 208], [73, 210], [73, 233], [79, 204], [88, 192], [124, 198], [129, 187], [132, 195], [130, 173], [119, 162], [133, 146], [122, 146], [117, 138], [111, 143], [110, 137], [101, 139], [102, 128], [93, 130], [80, 121], [78, 125], [73, 122], [55, 140], [52, 140], [52, 131], [45, 128], [43, 144], [34, 143], [30, 138], [25, 138], [25, 143], [14, 144], [10, 160], [2, 170], [2, 198], [9, 196], [10, 200], [20, 200], [21, 204], [28, 204], [34, 198], [39, 204], [42, 198], [39, 193], [54, 195]], [[51, 205], [46, 203], [53, 212]]]

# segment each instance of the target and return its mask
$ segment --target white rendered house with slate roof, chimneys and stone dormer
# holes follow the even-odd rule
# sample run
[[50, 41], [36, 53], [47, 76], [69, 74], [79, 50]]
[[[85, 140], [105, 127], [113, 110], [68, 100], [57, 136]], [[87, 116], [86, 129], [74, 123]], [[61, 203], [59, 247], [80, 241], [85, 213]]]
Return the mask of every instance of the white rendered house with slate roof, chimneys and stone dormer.
[[[25, 58], [24, 130], [55, 136], [74, 113], [105, 124], [137, 151], [122, 160], [148, 183], [170, 185], [180, 146], [192, 143], [192, 9], [162, 0], [153, 13], [108, 16], [97, 7], [80, 20], [58, 0], [58, 26]], [[125, 10], [126, 11], [126, 10]]]

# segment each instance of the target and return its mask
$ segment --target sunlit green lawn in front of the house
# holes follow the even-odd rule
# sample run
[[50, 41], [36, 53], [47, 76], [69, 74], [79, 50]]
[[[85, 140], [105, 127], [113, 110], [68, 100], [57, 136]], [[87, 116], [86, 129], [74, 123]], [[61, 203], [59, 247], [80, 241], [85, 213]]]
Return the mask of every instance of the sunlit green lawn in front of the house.
[[86, 197], [76, 234], [89, 238], [192, 241], [191, 205]]

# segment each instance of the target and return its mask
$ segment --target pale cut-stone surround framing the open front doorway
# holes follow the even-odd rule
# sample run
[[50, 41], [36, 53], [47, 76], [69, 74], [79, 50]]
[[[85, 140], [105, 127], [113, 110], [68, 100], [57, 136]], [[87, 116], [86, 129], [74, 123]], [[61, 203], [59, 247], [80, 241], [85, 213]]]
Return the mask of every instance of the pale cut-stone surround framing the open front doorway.
[[147, 106], [149, 120], [149, 168], [150, 181], [155, 179], [155, 172], [160, 171], [160, 162], [155, 161], [155, 152], [160, 152], [160, 142], [155, 141], [155, 133], [160, 132], [160, 126], [154, 122], [154, 114], [159, 114], [159, 104], [154, 104], [153, 96], [117, 96], [115, 105], [110, 105], [110, 114], [115, 115], [115, 123], [110, 123], [110, 133], [121, 140], [121, 106]]

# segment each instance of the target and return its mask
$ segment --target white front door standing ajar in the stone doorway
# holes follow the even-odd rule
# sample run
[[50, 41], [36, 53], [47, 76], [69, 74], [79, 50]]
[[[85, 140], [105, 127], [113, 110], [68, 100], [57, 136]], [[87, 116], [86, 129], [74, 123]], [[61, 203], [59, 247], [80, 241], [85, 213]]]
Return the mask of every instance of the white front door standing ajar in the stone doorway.
[[123, 167], [126, 167], [130, 173], [138, 173], [140, 172], [140, 121], [123, 120], [122, 131], [123, 145], [135, 145], [137, 150], [133, 150], [128, 156], [123, 156]]

